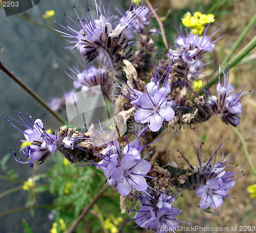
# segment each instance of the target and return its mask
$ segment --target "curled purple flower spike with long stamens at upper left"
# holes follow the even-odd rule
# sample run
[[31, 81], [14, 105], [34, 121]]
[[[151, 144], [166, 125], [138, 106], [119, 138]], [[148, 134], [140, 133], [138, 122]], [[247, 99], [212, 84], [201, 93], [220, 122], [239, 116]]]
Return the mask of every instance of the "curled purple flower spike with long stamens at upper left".
[[[70, 41], [70, 43], [73, 47], [71, 46], [71, 48], [78, 49], [87, 63], [95, 60], [99, 54], [107, 53], [113, 67], [120, 69], [118, 63], [123, 59], [130, 59], [132, 56], [131, 50], [127, 49], [128, 43], [126, 42], [126, 38], [123, 37], [123, 33], [144, 8], [138, 7], [136, 10], [127, 13], [123, 21], [115, 26], [114, 23], [111, 22], [111, 19], [108, 18], [108, 11], [104, 9], [102, 2], [99, 1], [99, 4], [97, 4], [95, 1], [95, 5], [97, 19], [93, 19], [89, 9], [87, 10], [87, 19], [81, 19], [74, 7], [79, 23], [76, 23], [75, 20], [67, 16], [72, 23], [67, 21], [68, 24], [66, 27], [59, 25], [67, 29], [68, 33], [58, 30], [55, 31], [59, 32], [64, 37], [72, 38], [73, 40]], [[101, 11], [100, 6], [103, 7], [104, 12]], [[106, 8], [107, 7], [108, 1], [106, 3]], [[103, 50], [105, 52], [103, 52]]]

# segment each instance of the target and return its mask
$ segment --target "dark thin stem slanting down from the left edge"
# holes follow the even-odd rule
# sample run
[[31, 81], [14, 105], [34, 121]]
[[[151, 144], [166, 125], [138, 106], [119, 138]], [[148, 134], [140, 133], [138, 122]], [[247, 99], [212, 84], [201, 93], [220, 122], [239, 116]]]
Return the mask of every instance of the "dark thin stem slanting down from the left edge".
[[26, 92], [28, 92], [37, 102], [40, 103], [48, 112], [50, 112], [61, 124], [65, 124], [65, 120], [62, 119], [56, 112], [54, 112], [47, 103], [42, 100], [35, 92], [33, 92], [26, 84], [24, 84], [17, 76], [8, 70], [8, 68], [0, 61], [0, 69], [2, 69], [15, 83], [22, 87]]

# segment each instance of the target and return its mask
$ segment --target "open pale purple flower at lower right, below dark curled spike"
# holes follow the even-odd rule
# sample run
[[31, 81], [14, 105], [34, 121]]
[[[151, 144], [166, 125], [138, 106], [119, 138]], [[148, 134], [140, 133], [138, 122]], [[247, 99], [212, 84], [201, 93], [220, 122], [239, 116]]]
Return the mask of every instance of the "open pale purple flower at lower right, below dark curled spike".
[[201, 197], [200, 207], [202, 209], [217, 209], [223, 203], [228, 189], [222, 182], [221, 178], [208, 179], [206, 185], [202, 185], [196, 189], [197, 196]]

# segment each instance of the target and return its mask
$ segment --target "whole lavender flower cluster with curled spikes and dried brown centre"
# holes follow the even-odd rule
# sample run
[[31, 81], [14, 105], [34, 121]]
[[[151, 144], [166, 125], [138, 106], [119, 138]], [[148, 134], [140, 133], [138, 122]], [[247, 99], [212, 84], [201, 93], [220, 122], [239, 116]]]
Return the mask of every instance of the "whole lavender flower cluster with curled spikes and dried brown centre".
[[[169, 45], [166, 53], [158, 53], [154, 45], [158, 30], [150, 28], [153, 15], [150, 8], [132, 4], [128, 11], [118, 10], [119, 16], [113, 17], [108, 3], [104, 6], [99, 0], [95, 6], [95, 18], [87, 1], [85, 15], [80, 17], [74, 7], [77, 18], [66, 15], [66, 26], [57, 23], [63, 31], [54, 29], [69, 39], [68, 48], [76, 49], [83, 60], [70, 66], [66, 73], [74, 88], [81, 88], [86, 95], [90, 95], [91, 87], [100, 85], [104, 97], [115, 103], [115, 115], [122, 109], [123, 124], [133, 123], [134, 130], [116, 137], [118, 128], [111, 131], [91, 125], [89, 130], [82, 127], [77, 131], [61, 126], [50, 134], [40, 119], [33, 120], [30, 115], [27, 119], [17, 113], [19, 120], [10, 116], [6, 119], [24, 134], [26, 140], [22, 141], [30, 145], [20, 150], [25, 162], [16, 159], [13, 152], [16, 161], [33, 167], [35, 161], [42, 163], [58, 150], [71, 163], [89, 162], [90, 165], [81, 166], [96, 166], [103, 171], [109, 186], [115, 187], [120, 195], [137, 200], [140, 206], [128, 212], [136, 213], [132, 218], [138, 226], [156, 232], [167, 232], [162, 229], [177, 228], [182, 222], [176, 219], [181, 211], [174, 206], [182, 189], [194, 190], [201, 198], [200, 207], [210, 208], [212, 213], [229, 197], [228, 191], [236, 179], [243, 176], [237, 177], [242, 173], [241, 168], [234, 171], [236, 166], [228, 164], [232, 158], [222, 156], [219, 160], [219, 148], [203, 161], [201, 147], [195, 147], [197, 167], [181, 152], [189, 169], [176, 167], [167, 162], [168, 152], [157, 150], [152, 144], [159, 141], [155, 138], [161, 128], [207, 121], [214, 114], [221, 114], [226, 124], [240, 123], [241, 100], [247, 92], [243, 92], [243, 86], [234, 93], [227, 68], [223, 71], [224, 80], [219, 74], [217, 96], [211, 95], [209, 89], [200, 96], [193, 89], [206, 65], [206, 54], [212, 52], [223, 36], [212, 39], [219, 29], [207, 36], [209, 25], [202, 36], [190, 33], [189, 29], [184, 33], [180, 28], [175, 49]], [[148, 51], [156, 57], [154, 63], [144, 59]], [[191, 95], [195, 98], [189, 98]], [[170, 187], [181, 190], [172, 194]]]

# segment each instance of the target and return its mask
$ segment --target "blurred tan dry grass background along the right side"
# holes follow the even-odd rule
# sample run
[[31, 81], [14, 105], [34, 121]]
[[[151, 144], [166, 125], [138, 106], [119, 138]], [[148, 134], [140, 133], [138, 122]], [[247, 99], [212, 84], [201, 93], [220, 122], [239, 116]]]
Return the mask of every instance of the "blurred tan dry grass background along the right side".
[[[167, 11], [166, 9], [172, 9], [172, 11], [175, 12], [180, 9], [184, 9], [185, 6], [193, 9], [193, 7], [195, 8], [198, 3], [209, 3], [207, 0], [169, 0], [169, 2], [160, 0], [151, 2], [159, 9], [158, 14], [160, 16], [165, 15]], [[231, 46], [246, 27], [256, 9], [256, 2], [251, 0], [233, 0], [229, 2], [230, 3], [227, 9], [229, 11], [228, 14], [216, 17], [216, 21], [214, 23], [216, 26], [221, 26], [221, 34], [225, 34], [225, 37], [218, 41], [215, 48], [218, 62], [221, 62], [221, 60], [229, 52]], [[195, 9], [195, 11], [197, 11], [197, 9]], [[256, 27], [254, 26], [254, 28], [252, 28], [246, 35], [246, 38], [243, 40], [236, 53], [255, 36], [255, 32]], [[247, 86], [245, 90], [251, 90], [250, 93], [244, 96], [245, 101], [242, 101], [243, 113], [240, 114], [241, 123], [237, 128], [246, 141], [246, 145], [254, 166], [256, 166], [255, 52], [256, 50], [254, 48], [254, 50], [251, 51], [249, 58], [245, 59], [236, 67], [230, 69], [230, 82], [233, 83], [235, 90], [238, 91], [239, 88], [246, 83]], [[211, 71], [208, 70], [207, 73], [208, 72]], [[214, 89], [216, 88], [212, 87], [211, 90]], [[214, 151], [218, 148], [220, 143], [225, 140], [225, 143], [219, 150], [219, 158], [221, 158], [222, 153], [231, 153], [230, 155], [233, 156], [240, 151], [240, 153], [233, 159], [232, 165], [238, 164], [238, 167], [242, 167], [247, 163], [241, 141], [234, 133], [232, 128], [220, 120], [219, 115], [215, 115], [209, 121], [196, 124], [195, 126], [195, 130], [192, 130], [188, 126], [186, 132], [176, 132], [171, 139], [170, 135], [172, 132], [166, 133], [164, 136], [165, 138], [163, 139], [163, 145], [167, 146], [167, 149], [169, 150], [170, 154], [172, 154], [172, 157], [177, 164], [184, 162], [182, 159], [178, 158], [179, 153], [176, 151], [177, 148], [179, 148], [179, 150], [186, 155], [191, 164], [195, 166], [198, 164], [196, 153], [193, 149], [193, 145], [190, 143], [190, 140], [192, 140], [196, 146], [199, 146], [204, 134], [207, 135], [207, 139], [202, 151], [205, 151], [206, 156], [209, 151], [209, 147], [211, 147], [211, 150]], [[231, 231], [231, 226], [256, 226], [256, 199], [249, 198], [249, 194], [246, 191], [247, 186], [255, 184], [255, 176], [253, 175], [249, 165], [243, 168], [243, 172], [246, 175], [237, 180], [236, 186], [234, 186], [234, 188], [229, 191], [228, 194], [231, 197], [236, 197], [236, 200], [226, 198], [223, 205], [221, 205], [218, 209], [220, 214], [219, 216], [217, 216], [216, 212], [212, 215], [212, 217], [210, 214], [204, 213], [204, 211], [198, 207], [200, 199], [196, 197], [195, 193], [193, 191], [185, 191], [183, 193], [184, 197], [177, 199], [177, 202], [179, 202], [178, 204], [180, 205], [179, 208], [184, 210], [183, 216], [181, 216], [179, 219], [191, 222], [194, 226], [229, 227], [228, 232], [234, 232]], [[183, 224], [183, 226], [186, 225]], [[239, 229], [237, 232], [239, 232]]]

